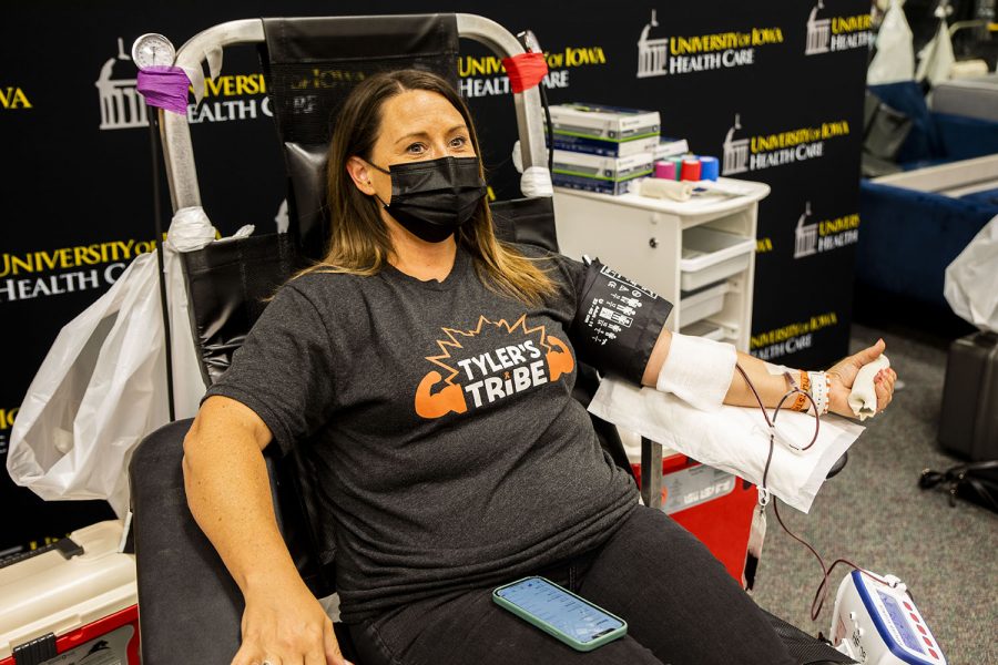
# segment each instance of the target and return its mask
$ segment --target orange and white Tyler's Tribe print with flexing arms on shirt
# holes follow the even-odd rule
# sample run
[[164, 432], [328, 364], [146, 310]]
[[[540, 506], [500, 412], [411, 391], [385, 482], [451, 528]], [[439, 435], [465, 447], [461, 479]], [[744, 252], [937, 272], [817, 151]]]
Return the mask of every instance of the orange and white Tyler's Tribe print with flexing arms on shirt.
[[[415, 409], [421, 418], [465, 413], [571, 374], [576, 360], [563, 341], [543, 326], [479, 317], [472, 330], [441, 328], [440, 354], [426, 359], [438, 369], [416, 388]], [[442, 383], [442, 386], [441, 386]]]

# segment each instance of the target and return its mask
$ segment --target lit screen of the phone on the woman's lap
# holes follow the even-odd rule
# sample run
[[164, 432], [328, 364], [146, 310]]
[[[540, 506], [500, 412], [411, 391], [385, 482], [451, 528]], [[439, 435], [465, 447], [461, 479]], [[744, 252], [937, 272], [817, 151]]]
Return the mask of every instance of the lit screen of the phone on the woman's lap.
[[623, 625], [618, 618], [540, 577], [501, 587], [496, 594], [582, 643]]

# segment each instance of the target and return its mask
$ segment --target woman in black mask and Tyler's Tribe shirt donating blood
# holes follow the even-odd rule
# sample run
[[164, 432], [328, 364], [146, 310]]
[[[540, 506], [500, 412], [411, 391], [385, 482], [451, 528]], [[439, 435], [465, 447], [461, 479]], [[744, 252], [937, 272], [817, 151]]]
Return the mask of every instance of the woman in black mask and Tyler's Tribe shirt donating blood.
[[[630, 327], [603, 326], [592, 294], [625, 277], [499, 242], [478, 154], [467, 108], [434, 74], [369, 78], [343, 108], [328, 253], [277, 293], [185, 440], [191, 510], [246, 602], [233, 663], [344, 663], [276, 526], [272, 444], [314, 469], [366, 664], [792, 663], [711, 553], [639, 504], [572, 398], [579, 362], [717, 405], [756, 403], [735, 362], [768, 407], [787, 378], [671, 334], [671, 306], [637, 287]], [[883, 350], [795, 380], [826, 382], [818, 408], [851, 416], [856, 374]], [[720, 369], [684, 397], [692, 365]], [[895, 378], [877, 377], [879, 410]], [[628, 634], [578, 653], [492, 603], [534, 574]]]

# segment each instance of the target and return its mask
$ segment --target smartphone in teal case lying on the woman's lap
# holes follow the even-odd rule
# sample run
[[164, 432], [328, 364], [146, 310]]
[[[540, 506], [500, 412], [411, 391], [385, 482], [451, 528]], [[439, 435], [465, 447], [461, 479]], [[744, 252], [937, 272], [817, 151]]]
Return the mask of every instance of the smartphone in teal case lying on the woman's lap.
[[543, 577], [500, 586], [492, 600], [577, 651], [592, 651], [628, 633], [624, 620]]

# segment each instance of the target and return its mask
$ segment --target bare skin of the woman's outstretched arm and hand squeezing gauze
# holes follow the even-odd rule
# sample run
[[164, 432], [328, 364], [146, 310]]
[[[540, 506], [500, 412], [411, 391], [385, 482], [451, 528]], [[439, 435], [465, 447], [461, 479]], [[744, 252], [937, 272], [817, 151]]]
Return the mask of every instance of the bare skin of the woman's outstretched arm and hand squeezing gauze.
[[[665, 358], [669, 356], [671, 346], [672, 334], [663, 328], [655, 342], [654, 349], [652, 349], [648, 366], [644, 369], [644, 375], [641, 379], [643, 386], [654, 387], [656, 385], [659, 374], [662, 371], [662, 366], [665, 362]], [[848, 405], [848, 397], [849, 391], [853, 388], [853, 382], [856, 380], [856, 375], [864, 365], [876, 360], [880, 354], [884, 352], [885, 348], [886, 345], [884, 344], [884, 340], [877, 340], [877, 344], [874, 346], [842, 359], [827, 370], [827, 375], [832, 379], [832, 390], [828, 395], [829, 411], [848, 418], [854, 417], [853, 410]], [[752, 385], [755, 386], [756, 391], [758, 391], [758, 396], [762, 398], [763, 403], [767, 408], [776, 407], [790, 389], [784, 376], [770, 374], [766, 369], [766, 364], [763, 360], [747, 354], [742, 354], [741, 351], [737, 352], [737, 364], [745, 370], [745, 374], [748, 375], [748, 378], [752, 381]], [[800, 372], [797, 372], [797, 375], [800, 375]], [[800, 382], [800, 376], [794, 376], [794, 380]], [[897, 374], [890, 368], [880, 370], [874, 379], [877, 395], [877, 412], [883, 411], [887, 408], [887, 405], [890, 403], [890, 400], [894, 397], [894, 383], [896, 380]], [[752, 390], [737, 370], [732, 374], [731, 385], [724, 397], [724, 403], [737, 407], [754, 407], [757, 403], [755, 397], [752, 395]], [[790, 405], [784, 402], [784, 407], [790, 407]]]

